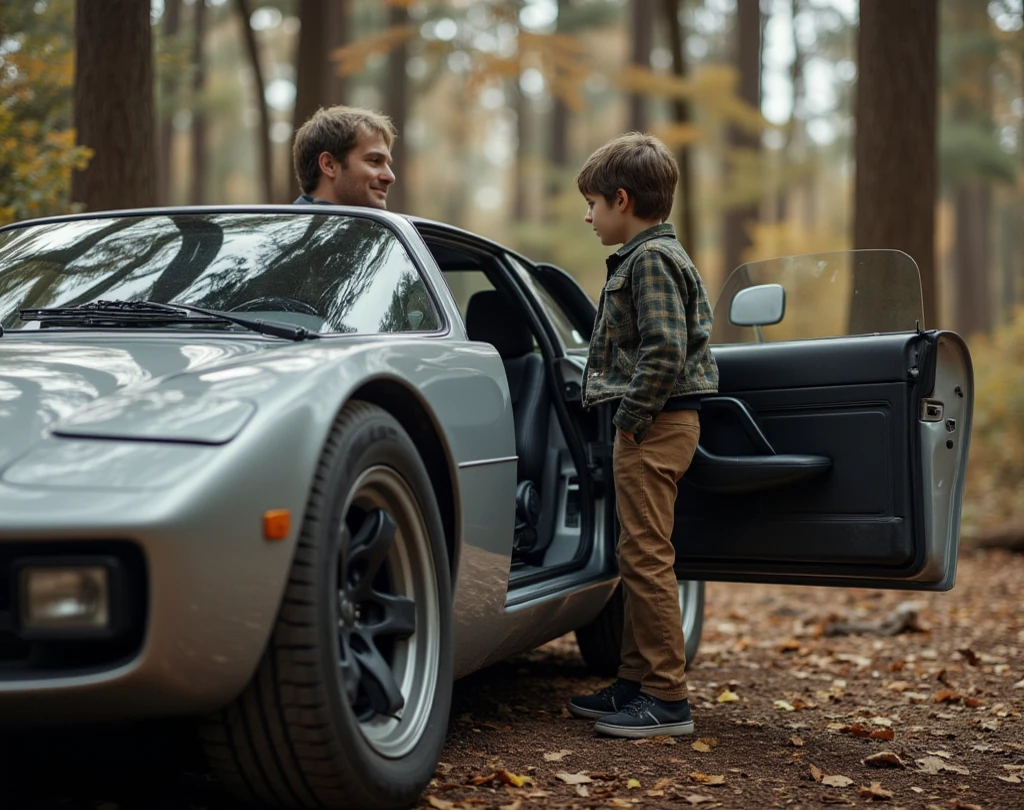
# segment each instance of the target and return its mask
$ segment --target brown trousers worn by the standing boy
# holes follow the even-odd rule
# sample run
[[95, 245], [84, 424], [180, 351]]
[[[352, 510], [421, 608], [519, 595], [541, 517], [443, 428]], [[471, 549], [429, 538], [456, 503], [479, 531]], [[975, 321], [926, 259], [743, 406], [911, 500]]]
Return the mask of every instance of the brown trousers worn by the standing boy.
[[615, 431], [612, 468], [626, 615], [618, 677], [663, 700], [686, 697], [686, 640], [672, 546], [677, 481], [700, 437], [696, 411], [658, 414], [637, 444]]

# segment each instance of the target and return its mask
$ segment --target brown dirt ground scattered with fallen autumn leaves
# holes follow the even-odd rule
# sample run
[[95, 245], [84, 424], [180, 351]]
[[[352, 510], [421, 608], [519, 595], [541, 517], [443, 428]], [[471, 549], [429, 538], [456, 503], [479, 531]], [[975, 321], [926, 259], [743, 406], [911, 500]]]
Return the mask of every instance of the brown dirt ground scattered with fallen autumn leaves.
[[[709, 585], [692, 737], [596, 736], [563, 706], [603, 685], [571, 636], [458, 682], [420, 807], [1018, 810], [1024, 555], [962, 556], [947, 594]], [[17, 806], [227, 807], [152, 754], [78, 759], [77, 774], [39, 771]]]

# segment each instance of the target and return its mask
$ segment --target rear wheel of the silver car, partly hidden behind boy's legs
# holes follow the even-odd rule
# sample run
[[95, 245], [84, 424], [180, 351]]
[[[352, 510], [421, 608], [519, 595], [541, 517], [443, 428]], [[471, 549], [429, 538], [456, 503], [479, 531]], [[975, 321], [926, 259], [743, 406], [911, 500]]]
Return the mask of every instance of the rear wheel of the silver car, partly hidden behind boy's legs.
[[[703, 631], [705, 584], [679, 581], [679, 602], [686, 637], [686, 669], [693, 666]], [[601, 612], [577, 629], [577, 644], [584, 663], [596, 675], [614, 677], [623, 643], [623, 586], [620, 585]]]

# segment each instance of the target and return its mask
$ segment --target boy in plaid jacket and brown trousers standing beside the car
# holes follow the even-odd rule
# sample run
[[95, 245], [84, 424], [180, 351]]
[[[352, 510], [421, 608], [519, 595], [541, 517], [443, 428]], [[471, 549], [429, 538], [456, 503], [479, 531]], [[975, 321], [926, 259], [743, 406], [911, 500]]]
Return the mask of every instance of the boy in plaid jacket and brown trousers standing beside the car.
[[678, 179], [665, 144], [639, 132], [603, 145], [577, 177], [586, 221], [602, 245], [622, 245], [607, 260], [583, 399], [618, 401], [612, 467], [626, 615], [617, 680], [571, 698], [568, 711], [620, 737], [693, 733], [672, 525], [718, 366], [703, 282], [666, 222]]

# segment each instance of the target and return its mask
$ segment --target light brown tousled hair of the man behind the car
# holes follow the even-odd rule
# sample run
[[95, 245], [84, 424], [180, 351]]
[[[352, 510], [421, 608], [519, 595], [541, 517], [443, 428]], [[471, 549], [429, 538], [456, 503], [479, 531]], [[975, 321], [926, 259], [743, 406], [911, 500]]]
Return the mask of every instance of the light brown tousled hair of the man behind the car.
[[328, 152], [342, 166], [347, 166], [348, 153], [355, 146], [360, 132], [383, 135], [388, 148], [397, 136], [387, 116], [341, 104], [322, 106], [299, 127], [292, 143], [292, 163], [303, 194], [316, 190], [321, 178], [319, 156]]

